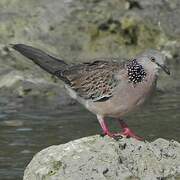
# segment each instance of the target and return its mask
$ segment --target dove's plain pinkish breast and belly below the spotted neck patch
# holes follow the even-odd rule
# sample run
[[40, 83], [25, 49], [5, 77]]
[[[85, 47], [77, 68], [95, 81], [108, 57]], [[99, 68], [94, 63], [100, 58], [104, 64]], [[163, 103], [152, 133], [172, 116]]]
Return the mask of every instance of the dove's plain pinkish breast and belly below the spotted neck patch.
[[147, 76], [144, 81], [137, 84], [123, 81], [116, 87], [109, 100], [90, 102], [88, 109], [103, 116], [122, 117], [144, 103], [154, 89], [155, 82], [155, 76]]

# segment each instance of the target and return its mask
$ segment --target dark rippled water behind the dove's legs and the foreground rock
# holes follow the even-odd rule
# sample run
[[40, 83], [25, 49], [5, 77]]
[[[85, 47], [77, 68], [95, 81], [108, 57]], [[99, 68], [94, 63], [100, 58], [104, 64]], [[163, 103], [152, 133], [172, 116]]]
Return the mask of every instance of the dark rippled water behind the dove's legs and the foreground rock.
[[[173, 73], [164, 92], [126, 117], [137, 134], [151, 141], [162, 137], [180, 141], [180, 69]], [[165, 83], [166, 86], [166, 83]], [[113, 131], [118, 124], [109, 120]], [[43, 148], [101, 133], [96, 117], [80, 105], [55, 106], [44, 99], [0, 99], [0, 179], [22, 179], [33, 155]]]

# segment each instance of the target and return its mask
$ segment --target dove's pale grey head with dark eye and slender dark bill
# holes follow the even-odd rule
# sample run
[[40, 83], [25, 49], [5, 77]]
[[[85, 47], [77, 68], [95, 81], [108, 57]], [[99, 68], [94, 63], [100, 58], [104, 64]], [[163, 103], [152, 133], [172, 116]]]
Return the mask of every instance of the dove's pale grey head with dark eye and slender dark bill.
[[168, 67], [165, 66], [166, 57], [160, 51], [148, 50], [139, 55], [136, 60], [146, 70], [158, 74], [159, 70], [162, 69], [166, 74], [170, 75]]

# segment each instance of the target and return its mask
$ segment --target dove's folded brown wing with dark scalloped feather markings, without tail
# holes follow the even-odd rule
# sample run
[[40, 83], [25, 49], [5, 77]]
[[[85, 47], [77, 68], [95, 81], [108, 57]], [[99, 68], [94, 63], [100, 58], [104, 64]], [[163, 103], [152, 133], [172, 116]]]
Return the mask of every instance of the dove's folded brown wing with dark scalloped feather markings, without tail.
[[92, 101], [105, 101], [113, 96], [120, 79], [116, 74], [123, 69], [124, 63], [118, 61], [94, 61], [68, 67], [57, 71], [62, 79], [78, 96]]

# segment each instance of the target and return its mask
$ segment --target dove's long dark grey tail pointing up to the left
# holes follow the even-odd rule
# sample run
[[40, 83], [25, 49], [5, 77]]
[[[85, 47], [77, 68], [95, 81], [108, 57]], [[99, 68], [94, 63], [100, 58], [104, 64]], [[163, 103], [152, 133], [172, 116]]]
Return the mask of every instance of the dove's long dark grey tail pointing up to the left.
[[61, 71], [67, 67], [67, 64], [64, 61], [57, 59], [40, 49], [24, 44], [12, 44], [11, 47], [51, 74], [55, 74], [57, 71]]

